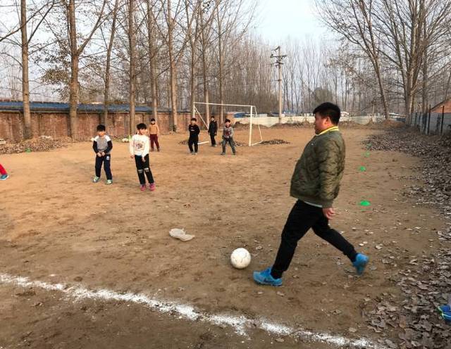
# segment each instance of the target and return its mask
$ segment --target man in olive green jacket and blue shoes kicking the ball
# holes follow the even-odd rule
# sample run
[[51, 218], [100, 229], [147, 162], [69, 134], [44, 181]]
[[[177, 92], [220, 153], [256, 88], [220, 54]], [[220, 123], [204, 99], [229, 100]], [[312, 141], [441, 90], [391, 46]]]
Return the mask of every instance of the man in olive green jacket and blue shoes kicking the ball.
[[340, 108], [323, 103], [314, 110], [315, 137], [304, 148], [291, 179], [290, 195], [297, 198], [282, 232], [276, 261], [262, 272], [254, 272], [257, 284], [280, 286], [282, 274], [290, 266], [297, 242], [311, 228], [314, 233], [352, 262], [362, 274], [369, 258], [357, 253], [338, 231], [329, 227], [335, 215], [333, 201], [338, 196], [345, 170], [345, 141], [338, 129]]

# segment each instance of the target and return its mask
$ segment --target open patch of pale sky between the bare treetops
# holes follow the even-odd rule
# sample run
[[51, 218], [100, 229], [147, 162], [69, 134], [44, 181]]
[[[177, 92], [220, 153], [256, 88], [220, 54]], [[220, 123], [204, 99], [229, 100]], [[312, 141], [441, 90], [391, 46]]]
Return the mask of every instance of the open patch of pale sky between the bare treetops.
[[314, 14], [313, 0], [258, 0], [255, 31], [265, 41], [279, 44], [287, 37], [304, 39], [326, 33]]

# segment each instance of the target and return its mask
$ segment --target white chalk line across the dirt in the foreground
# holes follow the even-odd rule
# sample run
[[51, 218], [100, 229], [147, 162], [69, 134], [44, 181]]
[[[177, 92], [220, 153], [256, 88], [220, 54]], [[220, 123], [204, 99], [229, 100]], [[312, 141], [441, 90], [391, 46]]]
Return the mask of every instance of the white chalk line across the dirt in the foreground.
[[190, 321], [209, 322], [217, 326], [230, 326], [236, 334], [247, 336], [249, 329], [261, 329], [273, 336], [290, 336], [309, 341], [321, 342], [342, 347], [348, 345], [353, 348], [387, 349], [367, 338], [351, 339], [344, 336], [295, 329], [291, 326], [271, 322], [267, 319], [249, 319], [245, 315], [209, 314], [196, 310], [192, 305], [150, 298], [142, 293], [118, 293], [107, 289], [90, 290], [82, 286], [69, 286], [67, 284], [51, 284], [45, 281], [32, 281], [27, 277], [18, 277], [11, 274], [0, 274], [0, 284], [11, 284], [23, 288], [35, 287], [46, 291], [59, 291], [75, 300], [117, 300], [126, 303], [136, 303], [156, 310], [157, 312], [175, 315], [179, 319]]

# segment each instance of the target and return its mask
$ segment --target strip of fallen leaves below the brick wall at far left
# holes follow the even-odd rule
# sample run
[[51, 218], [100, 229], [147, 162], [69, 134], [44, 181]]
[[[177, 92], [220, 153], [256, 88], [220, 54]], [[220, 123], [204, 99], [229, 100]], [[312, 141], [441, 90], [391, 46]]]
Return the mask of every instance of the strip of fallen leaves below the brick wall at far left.
[[25, 141], [10, 143], [0, 141], [0, 154], [30, 153], [34, 151], [49, 151], [55, 148], [63, 148], [70, 139], [53, 139], [52, 137], [42, 136]]

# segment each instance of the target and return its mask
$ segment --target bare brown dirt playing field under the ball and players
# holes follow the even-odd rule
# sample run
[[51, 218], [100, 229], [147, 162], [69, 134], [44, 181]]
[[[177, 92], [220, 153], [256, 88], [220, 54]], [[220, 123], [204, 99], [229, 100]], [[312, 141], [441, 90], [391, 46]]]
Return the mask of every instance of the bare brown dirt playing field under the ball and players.
[[[11, 178], [0, 182], [0, 274], [144, 293], [209, 314], [376, 340], [362, 315], [382, 293], [399, 296], [390, 275], [433, 250], [443, 222], [431, 208], [401, 196], [408, 184], [401, 177], [419, 160], [388, 152], [365, 157], [360, 142], [370, 132], [343, 131], [347, 167], [332, 223], [370, 256], [363, 277], [354, 277], [347, 258], [310, 232], [283, 287], [252, 281], [252, 271], [271, 265], [275, 256], [295, 202], [290, 177], [311, 129], [265, 129], [265, 139], [290, 144], [239, 147], [237, 156], [228, 148], [226, 157], [205, 145], [199, 156], [190, 156], [179, 144], [185, 135], [163, 136], [161, 153], [151, 154], [153, 193], [139, 190], [128, 144], [114, 144], [112, 186], [104, 178], [90, 182], [89, 143], [1, 156]], [[245, 130], [237, 132], [238, 141], [246, 137]], [[359, 172], [362, 165], [366, 172]], [[371, 207], [361, 208], [362, 200]], [[168, 231], [175, 227], [196, 237], [173, 240]], [[252, 253], [245, 270], [228, 262], [237, 247]], [[137, 304], [73, 302], [60, 291], [13, 284], [0, 284], [0, 322], [0, 348], [333, 348], [261, 329], [240, 336], [229, 326], [190, 322]], [[396, 337], [395, 330], [388, 336]]]

